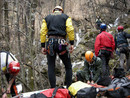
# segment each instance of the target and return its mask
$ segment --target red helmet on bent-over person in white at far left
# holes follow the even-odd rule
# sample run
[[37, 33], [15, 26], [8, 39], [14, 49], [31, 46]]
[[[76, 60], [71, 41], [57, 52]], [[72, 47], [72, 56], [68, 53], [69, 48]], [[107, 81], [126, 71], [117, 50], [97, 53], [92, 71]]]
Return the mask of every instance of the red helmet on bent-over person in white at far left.
[[17, 61], [12, 61], [8, 66], [8, 71], [12, 75], [17, 75], [20, 71], [20, 64]]

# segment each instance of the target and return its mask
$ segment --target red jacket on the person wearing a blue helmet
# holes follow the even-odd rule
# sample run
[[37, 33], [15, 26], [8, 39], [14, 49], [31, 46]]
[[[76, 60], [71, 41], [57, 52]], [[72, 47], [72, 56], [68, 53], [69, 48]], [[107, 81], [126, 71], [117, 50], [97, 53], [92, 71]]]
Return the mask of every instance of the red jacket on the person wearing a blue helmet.
[[108, 50], [108, 51], [114, 51], [115, 49], [115, 41], [112, 36], [112, 34], [102, 31], [95, 40], [95, 55], [98, 56], [99, 50]]

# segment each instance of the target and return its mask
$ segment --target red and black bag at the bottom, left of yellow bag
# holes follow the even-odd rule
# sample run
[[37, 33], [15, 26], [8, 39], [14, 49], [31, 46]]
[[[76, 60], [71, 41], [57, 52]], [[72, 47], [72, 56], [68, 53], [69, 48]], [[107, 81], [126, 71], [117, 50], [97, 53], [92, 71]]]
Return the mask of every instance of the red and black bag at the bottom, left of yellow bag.
[[30, 98], [71, 98], [68, 89], [56, 87], [32, 94]]

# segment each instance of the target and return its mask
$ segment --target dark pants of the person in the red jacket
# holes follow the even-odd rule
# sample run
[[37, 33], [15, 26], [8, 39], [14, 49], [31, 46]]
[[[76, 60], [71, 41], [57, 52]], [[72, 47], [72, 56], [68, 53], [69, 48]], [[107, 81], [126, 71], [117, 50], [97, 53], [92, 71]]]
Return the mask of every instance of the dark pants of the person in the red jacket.
[[102, 60], [102, 75], [109, 76], [109, 60], [111, 57], [111, 51], [101, 50], [101, 55], [99, 56]]

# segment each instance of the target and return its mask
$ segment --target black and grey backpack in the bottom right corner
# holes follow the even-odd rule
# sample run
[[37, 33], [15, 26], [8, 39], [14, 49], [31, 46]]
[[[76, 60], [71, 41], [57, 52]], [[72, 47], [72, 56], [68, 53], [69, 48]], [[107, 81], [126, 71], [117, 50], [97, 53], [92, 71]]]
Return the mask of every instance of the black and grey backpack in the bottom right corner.
[[129, 98], [130, 96], [130, 82], [126, 77], [113, 79], [111, 84], [105, 89], [105, 96], [107, 97]]

